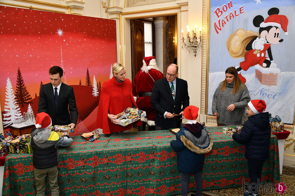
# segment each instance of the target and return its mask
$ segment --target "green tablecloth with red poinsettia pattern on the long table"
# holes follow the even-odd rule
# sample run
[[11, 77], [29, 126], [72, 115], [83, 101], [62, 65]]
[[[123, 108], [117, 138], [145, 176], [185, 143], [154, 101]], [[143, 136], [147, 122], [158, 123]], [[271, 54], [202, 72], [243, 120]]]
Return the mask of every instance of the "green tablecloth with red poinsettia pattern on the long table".
[[[203, 189], [227, 188], [249, 182], [244, 145], [210, 127], [213, 150], [206, 155]], [[175, 135], [167, 130], [105, 135], [95, 142], [73, 137], [70, 147], [60, 148], [59, 186], [61, 195], [172, 195], [181, 193], [176, 153], [170, 146]], [[270, 158], [265, 161], [263, 180], [279, 180], [278, 140], [272, 135]], [[195, 190], [191, 176], [189, 190]], [[49, 184], [47, 183], [47, 188]], [[2, 195], [36, 194], [32, 155], [6, 157]], [[47, 190], [47, 195], [49, 190]]]

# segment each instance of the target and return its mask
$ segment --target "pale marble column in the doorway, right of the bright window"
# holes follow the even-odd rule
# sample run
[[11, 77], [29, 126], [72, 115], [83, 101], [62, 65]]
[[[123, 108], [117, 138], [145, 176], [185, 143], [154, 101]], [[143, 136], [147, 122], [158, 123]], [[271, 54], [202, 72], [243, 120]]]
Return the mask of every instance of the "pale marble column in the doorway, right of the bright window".
[[159, 70], [166, 71], [166, 25], [168, 20], [154, 20], [155, 25], [155, 57]]

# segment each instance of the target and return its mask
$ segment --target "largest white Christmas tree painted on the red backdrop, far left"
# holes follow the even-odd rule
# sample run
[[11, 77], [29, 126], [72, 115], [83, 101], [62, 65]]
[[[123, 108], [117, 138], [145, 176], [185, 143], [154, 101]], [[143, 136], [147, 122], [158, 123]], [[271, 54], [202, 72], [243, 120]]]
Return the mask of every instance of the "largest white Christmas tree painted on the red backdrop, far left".
[[7, 127], [12, 124], [13, 120], [20, 119], [23, 116], [21, 115], [20, 107], [17, 105], [15, 101], [14, 91], [12, 89], [12, 85], [9, 77], [6, 80], [6, 92], [5, 92], [5, 106], [4, 106], [4, 118], [3, 125]]

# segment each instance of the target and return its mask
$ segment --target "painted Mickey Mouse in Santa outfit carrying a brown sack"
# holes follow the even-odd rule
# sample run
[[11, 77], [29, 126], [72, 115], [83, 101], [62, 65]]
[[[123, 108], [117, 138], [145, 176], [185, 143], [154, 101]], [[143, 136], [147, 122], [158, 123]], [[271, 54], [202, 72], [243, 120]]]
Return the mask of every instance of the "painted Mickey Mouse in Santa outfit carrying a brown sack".
[[[285, 15], [278, 15], [278, 8], [271, 8], [268, 11], [269, 17], [265, 20], [261, 15], [253, 19], [253, 25], [259, 27], [259, 32], [237, 29], [227, 40], [229, 54], [233, 58], [244, 57], [240, 65], [235, 66], [240, 79], [246, 83], [241, 75], [241, 70], [247, 71], [254, 65], [263, 68], [276, 68], [277, 64], [272, 58], [271, 44], [283, 42], [280, 38], [282, 31], [287, 32], [288, 18]], [[267, 51], [267, 55], [266, 55]]]

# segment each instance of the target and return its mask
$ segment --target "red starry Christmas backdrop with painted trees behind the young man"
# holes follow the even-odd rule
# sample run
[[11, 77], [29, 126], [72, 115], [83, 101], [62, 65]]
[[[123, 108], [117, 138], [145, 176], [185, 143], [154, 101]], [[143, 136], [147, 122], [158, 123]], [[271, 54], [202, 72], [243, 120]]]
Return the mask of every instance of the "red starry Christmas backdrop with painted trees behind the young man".
[[[8, 77], [14, 94], [19, 97], [22, 91], [26, 95], [22, 103], [15, 98], [21, 112], [26, 112], [30, 103], [36, 115], [40, 85], [50, 82], [48, 70], [57, 65], [64, 69], [64, 83], [74, 88], [79, 112], [75, 135], [92, 131], [99, 87], [109, 79], [110, 67], [116, 62], [116, 23], [0, 6], [0, 62], [2, 120], [5, 106], [9, 107], [5, 100]], [[94, 77], [98, 96], [93, 95]]]

